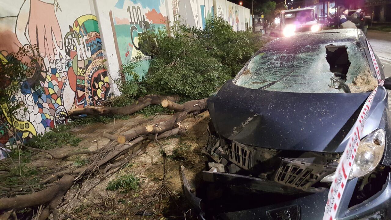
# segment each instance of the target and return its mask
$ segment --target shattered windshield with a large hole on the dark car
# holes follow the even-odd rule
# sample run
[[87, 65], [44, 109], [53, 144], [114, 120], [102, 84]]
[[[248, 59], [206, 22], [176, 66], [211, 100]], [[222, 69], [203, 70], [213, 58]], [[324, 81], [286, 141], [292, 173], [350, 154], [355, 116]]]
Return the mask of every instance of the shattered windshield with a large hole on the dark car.
[[377, 86], [364, 49], [340, 42], [260, 51], [233, 80], [235, 85], [280, 92], [368, 92]]

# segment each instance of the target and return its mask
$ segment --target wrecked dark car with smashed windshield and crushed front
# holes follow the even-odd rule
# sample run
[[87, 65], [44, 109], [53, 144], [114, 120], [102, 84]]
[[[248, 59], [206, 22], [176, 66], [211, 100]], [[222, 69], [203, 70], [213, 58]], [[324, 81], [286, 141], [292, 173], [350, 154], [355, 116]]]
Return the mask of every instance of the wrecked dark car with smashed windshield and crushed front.
[[322, 219], [352, 126], [385, 80], [369, 110], [337, 219], [391, 219], [391, 79], [382, 68], [375, 74], [369, 47], [357, 29], [279, 38], [208, 99], [210, 135], [197, 193], [183, 177], [199, 218]]

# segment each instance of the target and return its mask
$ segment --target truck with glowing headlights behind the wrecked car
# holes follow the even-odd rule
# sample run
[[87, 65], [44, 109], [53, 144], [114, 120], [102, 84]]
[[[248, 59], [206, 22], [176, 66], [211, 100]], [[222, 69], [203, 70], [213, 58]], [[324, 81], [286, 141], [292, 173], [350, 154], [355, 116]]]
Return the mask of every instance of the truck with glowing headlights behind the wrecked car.
[[313, 8], [284, 10], [280, 13], [280, 24], [271, 32], [274, 36], [292, 36], [297, 32], [321, 30]]

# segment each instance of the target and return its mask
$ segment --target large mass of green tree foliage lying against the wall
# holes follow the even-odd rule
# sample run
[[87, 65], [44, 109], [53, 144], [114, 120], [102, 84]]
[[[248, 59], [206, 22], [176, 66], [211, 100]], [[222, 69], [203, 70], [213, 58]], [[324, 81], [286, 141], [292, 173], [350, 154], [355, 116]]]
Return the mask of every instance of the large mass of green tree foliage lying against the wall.
[[222, 18], [208, 20], [204, 30], [179, 23], [170, 29], [171, 35], [160, 30], [140, 37], [141, 50], [152, 57], [142, 80], [149, 93], [208, 97], [262, 46], [259, 35], [235, 32]]

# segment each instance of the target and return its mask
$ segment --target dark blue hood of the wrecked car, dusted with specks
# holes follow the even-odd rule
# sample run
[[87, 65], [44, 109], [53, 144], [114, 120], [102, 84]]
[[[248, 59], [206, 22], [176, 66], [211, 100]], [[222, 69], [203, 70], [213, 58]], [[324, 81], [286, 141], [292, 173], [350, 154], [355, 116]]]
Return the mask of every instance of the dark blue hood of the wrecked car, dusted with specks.
[[[275, 92], [239, 87], [228, 81], [208, 99], [208, 109], [217, 133], [242, 144], [342, 152], [344, 148], [339, 145], [346, 141], [369, 94]], [[376, 97], [380, 96], [384, 101], [386, 91], [378, 90]], [[380, 102], [376, 97], [368, 118]], [[379, 120], [384, 105], [380, 107]]]

